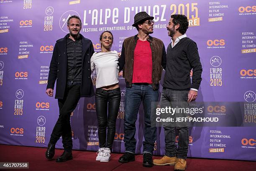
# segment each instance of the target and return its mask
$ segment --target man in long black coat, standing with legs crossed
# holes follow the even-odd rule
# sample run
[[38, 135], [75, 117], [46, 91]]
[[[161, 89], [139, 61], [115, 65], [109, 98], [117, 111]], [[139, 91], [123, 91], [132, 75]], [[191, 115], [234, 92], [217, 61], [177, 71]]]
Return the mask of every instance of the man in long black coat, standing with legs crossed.
[[91, 81], [90, 58], [94, 53], [92, 41], [84, 38], [82, 22], [76, 15], [67, 21], [69, 34], [56, 41], [51, 58], [46, 94], [53, 97], [54, 83], [59, 104], [59, 118], [51, 133], [46, 158], [54, 157], [55, 144], [62, 136], [64, 153], [56, 159], [63, 162], [72, 159], [72, 133], [70, 115], [80, 97], [92, 97], [94, 89]]

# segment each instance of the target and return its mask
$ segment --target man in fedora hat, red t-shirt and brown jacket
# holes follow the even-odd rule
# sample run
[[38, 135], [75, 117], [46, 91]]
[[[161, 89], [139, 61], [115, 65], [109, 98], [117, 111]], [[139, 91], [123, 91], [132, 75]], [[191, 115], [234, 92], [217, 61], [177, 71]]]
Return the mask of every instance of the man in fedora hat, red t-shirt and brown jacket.
[[[126, 38], [123, 42], [119, 58], [119, 70], [123, 70], [126, 83], [124, 142], [125, 153], [119, 158], [120, 163], [135, 160], [136, 120], [141, 102], [144, 109], [143, 166], [152, 167], [152, 154], [156, 141], [156, 123], [152, 102], [159, 96], [159, 81], [163, 68], [166, 67], [166, 51], [164, 43], [149, 36], [154, 30], [154, 17], [146, 12], [134, 16], [133, 27], [138, 34]], [[152, 108], [151, 108], [152, 107]]]

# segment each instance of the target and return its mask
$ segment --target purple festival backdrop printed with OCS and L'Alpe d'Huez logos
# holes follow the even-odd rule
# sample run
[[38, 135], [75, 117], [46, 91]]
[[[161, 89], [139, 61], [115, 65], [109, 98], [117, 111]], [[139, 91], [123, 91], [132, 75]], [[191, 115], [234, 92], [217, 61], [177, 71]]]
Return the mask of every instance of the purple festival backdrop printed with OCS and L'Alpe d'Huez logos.
[[[81, 33], [92, 40], [95, 51], [100, 51], [99, 36], [105, 30], [114, 35], [113, 50], [121, 51], [124, 38], [137, 33], [131, 27], [137, 12], [145, 10], [155, 17], [152, 36], [164, 41], [166, 47], [170, 43], [166, 30], [170, 15], [185, 14], [190, 23], [187, 36], [197, 43], [203, 66], [197, 101], [246, 102], [248, 105], [256, 102], [254, 0], [105, 2], [0, 0], [0, 144], [47, 146], [58, 118], [57, 100], [45, 94], [49, 63], [55, 41], [67, 34], [65, 23], [70, 15], [81, 17]], [[94, 85], [96, 77], [92, 74]], [[115, 152], [124, 152], [125, 83], [122, 77], [120, 87], [122, 100], [113, 146]], [[247, 110], [246, 105], [244, 110]], [[244, 122], [256, 123], [256, 107], [250, 110], [251, 115], [241, 114]], [[218, 107], [207, 112], [220, 113]], [[97, 151], [94, 97], [79, 101], [71, 124], [73, 148]], [[141, 153], [142, 107], [136, 128], [136, 153]], [[255, 133], [255, 127], [192, 127], [188, 156], [256, 161]], [[62, 148], [61, 140], [57, 148]], [[154, 154], [164, 155], [163, 128], [157, 130]]]

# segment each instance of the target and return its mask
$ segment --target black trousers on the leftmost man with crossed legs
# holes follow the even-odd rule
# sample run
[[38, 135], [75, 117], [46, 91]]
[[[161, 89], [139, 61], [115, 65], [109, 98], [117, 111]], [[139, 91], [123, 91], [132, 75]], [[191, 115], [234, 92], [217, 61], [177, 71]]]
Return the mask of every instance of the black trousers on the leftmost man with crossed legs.
[[62, 143], [65, 151], [72, 151], [72, 133], [70, 125], [70, 115], [77, 107], [81, 97], [81, 84], [67, 85], [64, 98], [58, 99], [59, 118], [51, 133], [50, 143], [55, 144], [62, 136]]

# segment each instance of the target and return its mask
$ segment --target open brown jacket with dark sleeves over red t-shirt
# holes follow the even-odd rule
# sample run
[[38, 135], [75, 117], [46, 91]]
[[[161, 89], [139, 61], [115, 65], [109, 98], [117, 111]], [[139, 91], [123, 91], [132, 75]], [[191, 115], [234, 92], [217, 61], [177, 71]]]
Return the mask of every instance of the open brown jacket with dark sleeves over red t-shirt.
[[[134, 49], [136, 47], [137, 40], [138, 35], [126, 38], [123, 41], [121, 56], [118, 59], [119, 71], [123, 70], [126, 87], [132, 86]], [[152, 51], [153, 89], [158, 89], [163, 68], [166, 68], [166, 51], [164, 43], [160, 39], [149, 36], [147, 41], [150, 42]]]

